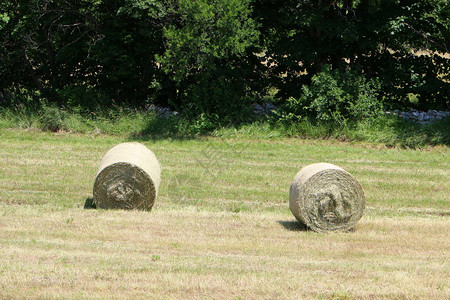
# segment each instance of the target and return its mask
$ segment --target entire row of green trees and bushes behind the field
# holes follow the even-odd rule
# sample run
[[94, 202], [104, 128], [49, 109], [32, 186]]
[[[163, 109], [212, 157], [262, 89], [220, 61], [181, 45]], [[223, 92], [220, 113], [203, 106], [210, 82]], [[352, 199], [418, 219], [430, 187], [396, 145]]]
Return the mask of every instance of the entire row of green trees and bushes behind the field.
[[5, 0], [0, 91], [230, 121], [447, 109], [449, 19], [447, 0]]

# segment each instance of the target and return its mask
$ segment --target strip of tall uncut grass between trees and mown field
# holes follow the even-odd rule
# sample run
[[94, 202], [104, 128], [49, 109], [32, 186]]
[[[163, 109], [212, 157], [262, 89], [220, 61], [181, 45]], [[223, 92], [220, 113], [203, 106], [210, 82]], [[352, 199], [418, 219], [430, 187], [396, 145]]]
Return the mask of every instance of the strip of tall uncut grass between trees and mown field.
[[[56, 111], [58, 110], [58, 111]], [[0, 108], [0, 128], [110, 134], [131, 139], [186, 138], [195, 136], [243, 137], [254, 139], [308, 138], [362, 141], [386, 146], [417, 148], [450, 145], [450, 117], [420, 125], [396, 116], [384, 115], [360, 122], [338, 124], [302, 120], [283, 124], [268, 120], [233, 126], [217, 125], [205, 130], [198, 121], [180, 116], [158, 117], [153, 112], [110, 108], [97, 111], [42, 107]]]

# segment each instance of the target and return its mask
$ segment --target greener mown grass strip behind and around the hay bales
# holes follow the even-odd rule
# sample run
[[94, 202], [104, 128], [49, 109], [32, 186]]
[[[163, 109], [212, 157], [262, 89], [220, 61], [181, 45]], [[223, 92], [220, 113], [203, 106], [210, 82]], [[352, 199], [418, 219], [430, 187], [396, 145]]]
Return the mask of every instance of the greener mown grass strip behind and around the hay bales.
[[[104, 153], [126, 137], [2, 130], [2, 202], [80, 207], [92, 196]], [[161, 201], [205, 209], [286, 210], [289, 185], [301, 167], [341, 166], [363, 185], [369, 206], [448, 209], [447, 147], [426, 150], [332, 141], [204, 138], [141, 141], [163, 166]], [[203, 207], [203, 206], [202, 206]]]

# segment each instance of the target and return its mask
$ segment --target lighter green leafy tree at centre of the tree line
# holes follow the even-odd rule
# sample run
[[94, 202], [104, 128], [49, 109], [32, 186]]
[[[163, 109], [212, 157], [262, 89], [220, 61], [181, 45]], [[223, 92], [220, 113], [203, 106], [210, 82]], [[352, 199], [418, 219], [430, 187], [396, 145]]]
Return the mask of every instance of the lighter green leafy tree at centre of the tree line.
[[178, 90], [175, 103], [187, 115], [242, 117], [250, 107], [246, 81], [254, 68], [247, 50], [258, 41], [248, 0], [179, 0], [164, 28], [162, 69]]

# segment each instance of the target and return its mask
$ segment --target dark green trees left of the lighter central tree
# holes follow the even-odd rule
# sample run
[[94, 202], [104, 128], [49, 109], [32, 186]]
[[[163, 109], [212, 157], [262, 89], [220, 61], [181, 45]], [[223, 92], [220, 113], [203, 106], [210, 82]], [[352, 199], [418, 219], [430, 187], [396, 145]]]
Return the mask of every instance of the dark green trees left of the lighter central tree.
[[158, 72], [161, 29], [133, 1], [6, 1], [0, 88], [70, 106], [142, 104]]

